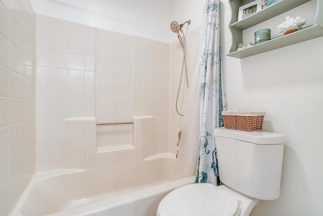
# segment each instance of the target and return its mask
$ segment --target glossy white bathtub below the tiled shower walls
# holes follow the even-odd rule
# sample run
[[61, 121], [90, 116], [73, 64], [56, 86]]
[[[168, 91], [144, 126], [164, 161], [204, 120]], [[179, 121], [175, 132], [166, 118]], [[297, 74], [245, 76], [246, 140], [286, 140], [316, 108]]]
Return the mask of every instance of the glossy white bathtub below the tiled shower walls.
[[172, 190], [194, 182], [174, 181], [176, 159], [145, 160], [36, 174], [12, 216], [152, 216]]

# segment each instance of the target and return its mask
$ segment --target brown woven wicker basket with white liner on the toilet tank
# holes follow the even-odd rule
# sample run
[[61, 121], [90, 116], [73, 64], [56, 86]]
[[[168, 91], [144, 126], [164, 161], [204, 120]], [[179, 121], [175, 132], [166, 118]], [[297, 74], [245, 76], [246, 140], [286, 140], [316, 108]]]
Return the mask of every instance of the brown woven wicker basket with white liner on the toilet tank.
[[222, 112], [224, 127], [239, 131], [262, 131], [262, 123], [265, 112]]

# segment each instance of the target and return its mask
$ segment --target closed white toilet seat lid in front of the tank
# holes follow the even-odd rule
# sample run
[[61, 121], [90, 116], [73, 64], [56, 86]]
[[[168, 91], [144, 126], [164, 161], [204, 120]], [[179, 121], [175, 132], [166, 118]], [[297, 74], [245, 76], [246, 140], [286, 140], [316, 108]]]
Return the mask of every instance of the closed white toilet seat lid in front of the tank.
[[228, 192], [208, 184], [190, 184], [175, 189], [158, 205], [157, 216], [238, 216], [239, 201]]

